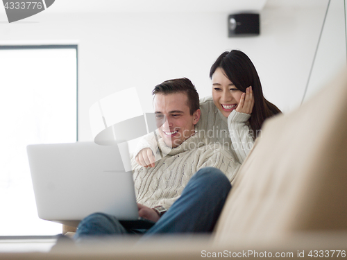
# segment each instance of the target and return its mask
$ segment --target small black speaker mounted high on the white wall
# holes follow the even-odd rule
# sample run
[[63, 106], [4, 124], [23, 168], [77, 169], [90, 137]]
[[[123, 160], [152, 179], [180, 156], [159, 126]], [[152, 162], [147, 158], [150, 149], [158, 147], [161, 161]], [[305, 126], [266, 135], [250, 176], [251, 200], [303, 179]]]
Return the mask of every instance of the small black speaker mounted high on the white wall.
[[259, 14], [242, 13], [229, 15], [228, 17], [228, 36], [256, 36], [260, 34]]

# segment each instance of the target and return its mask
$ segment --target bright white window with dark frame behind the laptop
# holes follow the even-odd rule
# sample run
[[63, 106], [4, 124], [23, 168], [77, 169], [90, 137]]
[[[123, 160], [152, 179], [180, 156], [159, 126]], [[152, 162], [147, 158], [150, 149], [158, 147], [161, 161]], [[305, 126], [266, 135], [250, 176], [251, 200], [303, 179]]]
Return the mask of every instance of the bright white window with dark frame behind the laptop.
[[0, 71], [0, 236], [59, 234], [37, 216], [26, 146], [77, 140], [77, 46], [0, 46]]

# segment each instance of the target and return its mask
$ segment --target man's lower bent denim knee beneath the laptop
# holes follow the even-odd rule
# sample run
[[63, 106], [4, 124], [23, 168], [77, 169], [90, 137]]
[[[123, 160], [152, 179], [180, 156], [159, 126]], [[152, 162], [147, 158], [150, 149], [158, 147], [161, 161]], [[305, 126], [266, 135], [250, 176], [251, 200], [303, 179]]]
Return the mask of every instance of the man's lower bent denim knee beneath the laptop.
[[94, 213], [83, 218], [78, 225], [74, 239], [77, 240], [87, 236], [110, 236], [117, 234], [128, 234], [128, 232], [115, 216]]

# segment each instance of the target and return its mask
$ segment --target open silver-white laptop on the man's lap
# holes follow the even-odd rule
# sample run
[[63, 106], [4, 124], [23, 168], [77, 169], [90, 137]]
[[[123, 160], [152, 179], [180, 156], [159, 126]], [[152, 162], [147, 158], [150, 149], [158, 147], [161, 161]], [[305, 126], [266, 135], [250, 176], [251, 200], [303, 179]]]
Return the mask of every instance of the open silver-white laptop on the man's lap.
[[117, 145], [33, 144], [27, 153], [40, 218], [77, 227], [86, 216], [103, 212], [136, 220], [138, 228], [153, 225], [137, 221], [133, 173], [124, 170]]

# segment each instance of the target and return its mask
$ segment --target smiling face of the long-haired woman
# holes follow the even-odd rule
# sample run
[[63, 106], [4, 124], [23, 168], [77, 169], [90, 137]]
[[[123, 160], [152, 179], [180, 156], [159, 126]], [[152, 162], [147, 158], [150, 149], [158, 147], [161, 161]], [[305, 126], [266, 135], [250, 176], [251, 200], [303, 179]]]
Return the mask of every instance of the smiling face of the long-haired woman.
[[228, 117], [235, 110], [242, 96], [242, 91], [227, 78], [220, 67], [212, 75], [212, 98], [214, 105], [223, 116]]

